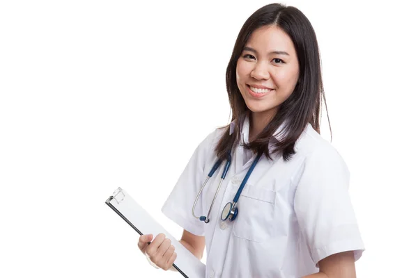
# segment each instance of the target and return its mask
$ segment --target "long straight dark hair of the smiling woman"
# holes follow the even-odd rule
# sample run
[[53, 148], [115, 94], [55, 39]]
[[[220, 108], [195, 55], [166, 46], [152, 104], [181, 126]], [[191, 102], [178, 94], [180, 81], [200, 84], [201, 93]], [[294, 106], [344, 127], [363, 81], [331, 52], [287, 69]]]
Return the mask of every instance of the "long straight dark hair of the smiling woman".
[[[271, 154], [281, 154], [284, 160], [288, 161], [295, 154], [295, 142], [308, 123], [320, 133], [322, 100], [324, 100], [325, 108], [327, 108], [327, 103], [323, 90], [320, 54], [314, 28], [309, 19], [297, 8], [272, 3], [256, 10], [247, 19], [235, 41], [231, 59], [226, 68], [226, 90], [231, 105], [232, 121], [236, 120], [236, 124], [233, 136], [230, 136], [229, 129], [226, 129], [219, 140], [216, 147], [219, 158], [226, 158], [229, 150], [240, 142], [240, 129], [247, 113], [249, 113], [249, 108], [246, 106], [237, 85], [236, 67], [238, 58], [240, 58], [250, 35], [256, 29], [270, 25], [278, 26], [291, 38], [299, 63], [299, 79], [295, 85], [295, 90], [280, 105], [277, 114], [274, 115], [263, 131], [245, 147], [258, 154], [265, 154], [270, 159]], [[330, 118], [328, 117], [329, 122]], [[270, 139], [282, 124], [284, 124], [282, 130], [284, 136], [274, 142], [270, 153]]]

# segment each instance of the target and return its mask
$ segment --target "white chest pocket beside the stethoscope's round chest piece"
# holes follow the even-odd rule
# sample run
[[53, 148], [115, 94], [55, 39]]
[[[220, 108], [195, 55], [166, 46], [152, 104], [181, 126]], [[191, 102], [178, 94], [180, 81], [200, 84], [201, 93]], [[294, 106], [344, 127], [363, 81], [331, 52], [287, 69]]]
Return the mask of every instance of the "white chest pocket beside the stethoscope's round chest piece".
[[[233, 186], [233, 196], [238, 186]], [[233, 223], [237, 238], [263, 242], [274, 235], [276, 192], [247, 184], [238, 200], [238, 216]]]

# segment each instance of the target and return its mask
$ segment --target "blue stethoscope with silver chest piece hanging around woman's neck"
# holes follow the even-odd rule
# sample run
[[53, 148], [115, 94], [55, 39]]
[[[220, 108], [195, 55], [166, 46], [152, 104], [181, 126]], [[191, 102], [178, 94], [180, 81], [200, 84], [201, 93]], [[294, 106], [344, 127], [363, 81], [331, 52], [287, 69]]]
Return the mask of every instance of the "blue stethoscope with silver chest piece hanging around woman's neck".
[[[256, 167], [256, 164], [258, 163], [258, 160], [261, 158], [261, 154], [258, 154], [256, 156], [256, 158], [254, 159], [253, 163], [251, 164], [251, 166], [249, 167], [249, 170], [247, 171], [247, 174], [245, 174], [244, 179], [242, 180], [242, 183], [240, 185], [240, 188], [238, 188], [237, 193], [235, 194], [235, 197], [233, 198], [233, 202], [229, 202], [228, 204], [226, 204], [224, 206], [224, 209], [222, 210], [222, 215], [221, 215], [221, 219], [223, 221], [225, 221], [226, 219], [229, 219], [230, 221], [235, 220], [235, 218], [237, 218], [238, 215], [238, 207], [235, 207], [238, 199], [240, 198], [240, 195], [242, 193], [242, 190], [244, 189], [245, 183], [247, 183], [249, 176], [251, 175], [251, 172], [254, 170], [254, 167]], [[204, 221], [205, 223], [209, 223], [209, 215], [210, 212], [212, 211], [212, 206], [215, 203], [215, 199], [217, 197], [217, 194], [219, 193], [219, 188], [221, 188], [222, 185], [222, 181], [224, 181], [226, 174], [228, 173], [229, 170], [229, 166], [231, 166], [231, 152], [229, 152], [228, 154], [228, 158], [226, 158], [226, 163], [224, 166], [224, 172], [222, 172], [222, 177], [221, 177], [221, 181], [219, 181], [219, 185], [217, 187], [216, 193], [215, 193], [215, 197], [213, 197], [212, 199], [212, 204], [210, 204], [210, 208], [208, 211], [208, 216], [201, 216], [201, 217], [197, 217], [196, 215], [194, 215], [194, 208], [196, 207], [197, 201], [199, 200], [199, 197], [203, 191], [203, 188], [205, 188], [206, 183], [208, 183], [208, 180], [212, 177], [212, 175], [216, 172], [217, 168], [222, 164], [222, 160], [219, 159], [218, 161], [215, 162], [215, 164], [213, 165], [212, 169], [210, 170], [208, 177], [206, 178], [206, 181], [203, 183], [203, 186], [201, 187], [201, 190], [199, 191], [196, 199], [194, 200], [194, 204], [193, 204], [193, 208], [192, 208], [192, 215], [194, 216], [194, 218], [199, 219], [201, 221]]]

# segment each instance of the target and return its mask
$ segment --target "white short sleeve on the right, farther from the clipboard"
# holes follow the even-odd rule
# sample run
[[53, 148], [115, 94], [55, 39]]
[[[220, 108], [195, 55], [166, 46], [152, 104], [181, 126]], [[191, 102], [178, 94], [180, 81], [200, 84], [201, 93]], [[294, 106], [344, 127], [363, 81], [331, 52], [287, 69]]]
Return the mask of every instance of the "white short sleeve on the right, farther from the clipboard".
[[360, 236], [348, 192], [350, 173], [338, 152], [320, 147], [307, 156], [295, 191], [295, 213], [311, 259], [345, 251], [362, 256]]

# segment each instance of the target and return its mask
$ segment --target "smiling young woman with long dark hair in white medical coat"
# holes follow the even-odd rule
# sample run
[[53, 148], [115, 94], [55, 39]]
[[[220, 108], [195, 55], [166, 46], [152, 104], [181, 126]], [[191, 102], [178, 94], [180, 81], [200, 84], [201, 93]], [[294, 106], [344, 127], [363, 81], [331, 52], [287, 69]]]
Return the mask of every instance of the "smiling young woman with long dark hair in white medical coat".
[[[323, 83], [307, 17], [281, 4], [251, 15], [226, 89], [231, 124], [196, 148], [162, 208], [184, 228], [180, 243], [199, 259], [206, 246], [207, 277], [355, 277], [364, 245], [348, 168], [319, 135]], [[139, 248], [169, 269], [173, 246], [152, 239]]]

